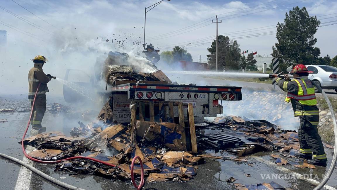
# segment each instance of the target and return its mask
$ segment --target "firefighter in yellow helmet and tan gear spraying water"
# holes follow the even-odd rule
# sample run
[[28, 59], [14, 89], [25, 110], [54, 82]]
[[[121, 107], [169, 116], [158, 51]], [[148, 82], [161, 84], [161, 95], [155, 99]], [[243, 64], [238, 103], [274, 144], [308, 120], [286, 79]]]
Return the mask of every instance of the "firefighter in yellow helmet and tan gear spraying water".
[[[28, 82], [29, 82], [29, 92], [28, 99], [31, 101], [33, 108], [33, 116], [31, 118], [30, 124], [32, 125], [32, 130], [30, 135], [37, 135], [39, 133], [45, 132], [46, 128], [42, 127], [41, 122], [45, 112], [46, 96], [45, 93], [49, 92], [47, 83], [52, 79], [56, 78], [50, 74], [44, 74], [42, 67], [45, 62], [48, 60], [41, 55], [37, 55], [33, 60], [34, 67], [30, 69], [28, 73]], [[35, 105], [33, 106], [34, 96], [37, 90], [37, 87], [41, 83], [39, 90], [36, 95]]]

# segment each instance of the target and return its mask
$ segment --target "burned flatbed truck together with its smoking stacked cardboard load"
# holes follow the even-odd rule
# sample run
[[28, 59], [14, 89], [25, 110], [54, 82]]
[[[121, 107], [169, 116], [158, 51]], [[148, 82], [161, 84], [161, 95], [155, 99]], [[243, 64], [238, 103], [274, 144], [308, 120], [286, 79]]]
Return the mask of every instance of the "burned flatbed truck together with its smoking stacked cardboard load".
[[[222, 113], [222, 101], [242, 100], [241, 87], [174, 85], [162, 71], [143, 57], [109, 52], [105, 61], [102, 60], [96, 61], [94, 76], [80, 74], [81, 77], [89, 77], [86, 82], [71, 76], [71, 72], [80, 72], [75, 70], [68, 70], [65, 80], [76, 78], [73, 81], [75, 84], [96, 89], [102, 97], [102, 104], [105, 103], [99, 118], [106, 123], [130, 123], [131, 103], [140, 105], [136, 110], [138, 119], [144, 117], [145, 121], [158, 122], [163, 121], [163, 118], [178, 119], [177, 106], [168, 105], [167, 102], [175, 102], [176, 105], [182, 102], [185, 120], [187, 104], [192, 103], [194, 122], [203, 122], [204, 117], [215, 117]], [[98, 85], [102, 81], [105, 81], [105, 89]], [[67, 102], [81, 99], [67, 86], [64, 86], [63, 93]], [[144, 110], [146, 112], [140, 114]]]

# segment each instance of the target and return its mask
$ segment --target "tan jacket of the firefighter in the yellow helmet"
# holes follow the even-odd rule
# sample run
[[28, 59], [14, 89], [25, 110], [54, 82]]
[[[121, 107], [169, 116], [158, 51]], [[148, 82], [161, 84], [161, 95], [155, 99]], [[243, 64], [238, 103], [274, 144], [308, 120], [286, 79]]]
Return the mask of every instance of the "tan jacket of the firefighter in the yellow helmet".
[[37, 94], [39, 95], [39, 94], [45, 94], [46, 92], [49, 92], [47, 83], [50, 80], [51, 80], [51, 77], [44, 74], [42, 70], [42, 64], [34, 64], [34, 67], [31, 68], [28, 73], [28, 83], [29, 83], [28, 99], [29, 101], [33, 101], [39, 82], [41, 82], [41, 85], [40, 85], [40, 88]]

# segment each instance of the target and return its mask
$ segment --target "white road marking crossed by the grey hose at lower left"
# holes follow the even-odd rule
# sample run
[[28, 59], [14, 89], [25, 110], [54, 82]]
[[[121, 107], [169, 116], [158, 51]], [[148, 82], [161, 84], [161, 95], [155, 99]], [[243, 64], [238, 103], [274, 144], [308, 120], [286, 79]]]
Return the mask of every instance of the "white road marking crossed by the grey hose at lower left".
[[[35, 148], [31, 146], [26, 147], [26, 152], [27, 154], [31, 151], [33, 151]], [[29, 160], [25, 156], [23, 157], [22, 161], [26, 162], [29, 165], [33, 165], [33, 161]], [[28, 190], [30, 186], [30, 180], [32, 178], [32, 171], [27, 169], [24, 166], [21, 166], [19, 175], [18, 175], [18, 180], [17, 184], [15, 185], [14, 190]]]

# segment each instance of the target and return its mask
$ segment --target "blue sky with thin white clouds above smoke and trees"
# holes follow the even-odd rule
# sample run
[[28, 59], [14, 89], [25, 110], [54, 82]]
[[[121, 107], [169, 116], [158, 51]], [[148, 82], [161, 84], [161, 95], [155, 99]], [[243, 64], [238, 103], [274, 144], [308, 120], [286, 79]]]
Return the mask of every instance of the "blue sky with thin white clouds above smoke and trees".
[[[36, 16], [29, 13], [27, 10], [20, 7], [18, 4], [11, 0], [1, 0], [0, 6], [12, 11], [13, 13], [33, 22], [34, 24], [43, 27], [48, 33], [40, 31], [37, 28], [29, 25], [28, 23], [8, 14], [6, 11], [0, 9], [0, 21], [6, 22], [7, 24], [16, 26], [28, 32], [32, 32], [38, 37], [44, 38], [40, 45], [43, 46], [46, 41], [51, 41], [53, 44], [55, 38], [60, 36], [59, 33], [67, 35], [70, 32], [71, 35], [84, 33], [86, 38], [107, 37], [108, 39], [115, 39], [112, 36], [120, 35], [119, 40], [123, 38], [126, 39], [128, 34], [129, 43], [135, 41], [137, 38], [143, 40], [143, 25], [144, 25], [144, 8], [149, 6], [158, 0], [147, 0], [147, 1], [42, 1], [42, 0], [15, 0], [20, 5], [24, 6], [32, 13], [42, 18], [43, 20], [51, 23], [53, 26], [49, 25], [47, 22], [42, 21]], [[302, 2], [300, 2], [302, 1]], [[297, 3], [298, 2], [298, 3]], [[259, 5], [261, 4], [261, 5]], [[219, 24], [219, 33], [229, 33], [228, 36], [233, 36], [238, 39], [240, 47], [242, 50], [250, 49], [257, 50], [261, 54], [271, 53], [271, 46], [276, 42], [275, 35], [263, 35], [261, 37], [255, 38], [244, 38], [254, 35], [256, 33], [273, 31], [274, 29], [266, 29], [256, 31], [256, 32], [245, 32], [237, 34], [238, 31], [259, 28], [264, 26], [275, 25], [277, 22], [282, 22], [284, 19], [284, 14], [286, 11], [291, 9], [293, 6], [306, 6], [310, 15], [327, 15], [337, 12], [337, 2], [336, 1], [312, 1], [312, 0], [268, 0], [268, 1], [190, 1], [190, 0], [171, 0], [164, 1], [149, 13], [147, 13], [147, 32], [146, 37], [148, 43], [153, 43], [155, 47], [167, 48], [173, 46], [173, 44], [179, 44], [185, 46], [189, 41], [202, 39], [211, 35], [215, 35], [215, 23], [211, 24], [211, 21], [205, 22], [205, 24], [192, 27], [188, 30], [183, 30], [182, 32], [177, 32], [176, 30], [184, 28], [194, 23], [198, 23], [202, 20], [208, 19], [216, 14], [223, 14], [219, 17], [225, 17], [222, 23]], [[249, 8], [252, 7], [252, 8]], [[335, 7], [335, 8], [334, 8]], [[242, 10], [243, 9], [243, 10]], [[269, 10], [268, 10], [269, 9]], [[260, 13], [257, 13], [261, 11]], [[229, 14], [225, 14], [232, 12]], [[246, 15], [248, 14], [248, 15]], [[336, 15], [332, 15], [336, 16]], [[234, 18], [233, 18], [234, 17]], [[327, 16], [328, 17], [328, 16]], [[326, 17], [322, 17], [326, 18]], [[214, 17], [215, 19], [215, 17]], [[336, 18], [325, 19], [324, 21], [333, 21]], [[323, 22], [323, 21], [322, 21]], [[209, 24], [208, 26], [205, 26]], [[54, 27], [56, 26], [56, 27]], [[201, 27], [204, 26], [204, 27]], [[76, 28], [77, 27], [77, 28]], [[133, 28], [136, 27], [136, 28]], [[196, 29], [201, 27], [199, 29]], [[76, 28], [76, 29], [75, 29]], [[0, 29], [8, 30], [8, 41], [9, 43], [24, 39], [24, 42], [32, 43], [35, 42], [33, 38], [27, 37], [18, 31], [10, 29], [6, 26], [0, 24]], [[195, 30], [193, 30], [195, 29]], [[336, 31], [337, 25], [326, 26], [325, 28], [319, 28], [317, 32], [318, 43], [317, 47], [321, 49], [323, 55], [330, 54], [335, 56], [334, 46], [329, 45], [331, 39], [336, 39], [333, 30]], [[190, 31], [192, 30], [192, 31]], [[153, 38], [163, 33], [168, 33], [171, 31], [176, 31], [172, 35], [164, 35]], [[182, 34], [180, 34], [182, 33]], [[15, 34], [15, 37], [12, 37]], [[179, 35], [176, 35], [179, 34]], [[231, 34], [231, 35], [230, 35]], [[71, 35], [65, 38], [71, 38]], [[152, 38], [151, 38], [152, 37]], [[60, 37], [64, 38], [64, 37]], [[126, 40], [126, 41], [128, 41]], [[211, 42], [212, 39], [209, 39]], [[187, 42], [183, 44], [183, 42]], [[197, 41], [198, 42], [198, 41]], [[209, 44], [196, 46], [201, 44], [192, 42], [187, 46], [188, 51], [191, 52], [193, 57], [197, 54], [202, 55], [202, 61], [205, 60], [207, 52], [207, 46]], [[19, 43], [19, 42], [18, 42]], [[193, 44], [194, 43], [194, 44]], [[65, 46], [65, 44], [58, 44], [60, 46]], [[75, 45], [75, 44], [74, 44]], [[190, 46], [190, 47], [189, 47]], [[194, 47], [195, 46], [195, 47]], [[58, 47], [58, 46], [57, 46]], [[136, 48], [135, 46], [130, 46], [129, 48], [134, 48], [141, 50], [141, 48]], [[129, 49], [130, 50], [130, 49]], [[162, 49], [169, 50], [169, 49]]]

